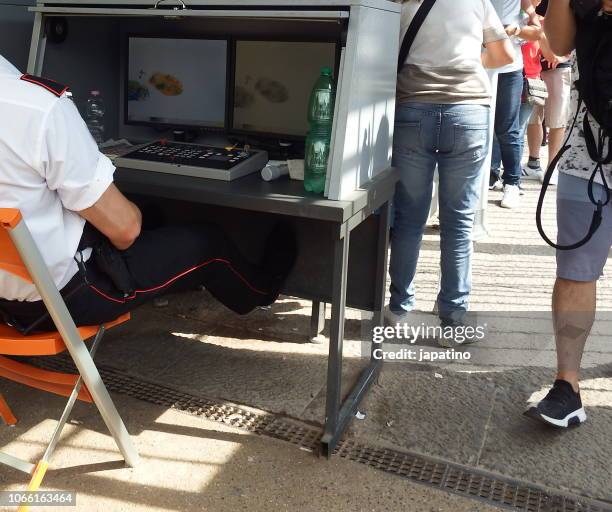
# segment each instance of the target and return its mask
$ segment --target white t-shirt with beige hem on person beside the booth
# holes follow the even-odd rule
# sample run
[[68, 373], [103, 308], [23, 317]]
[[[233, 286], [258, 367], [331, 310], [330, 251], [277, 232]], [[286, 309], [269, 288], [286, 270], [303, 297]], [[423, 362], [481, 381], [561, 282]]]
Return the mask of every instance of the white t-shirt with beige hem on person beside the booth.
[[[421, 5], [416, 0], [402, 4], [400, 41]], [[438, 0], [398, 77], [398, 101], [490, 104], [482, 45], [507, 38], [489, 0]]]

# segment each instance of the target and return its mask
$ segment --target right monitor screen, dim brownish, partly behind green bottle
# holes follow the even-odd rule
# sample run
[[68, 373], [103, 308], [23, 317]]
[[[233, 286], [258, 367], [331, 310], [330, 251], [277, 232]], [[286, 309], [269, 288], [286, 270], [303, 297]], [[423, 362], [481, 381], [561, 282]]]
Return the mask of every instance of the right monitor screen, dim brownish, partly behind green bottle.
[[321, 68], [335, 68], [336, 43], [237, 41], [234, 130], [303, 137]]

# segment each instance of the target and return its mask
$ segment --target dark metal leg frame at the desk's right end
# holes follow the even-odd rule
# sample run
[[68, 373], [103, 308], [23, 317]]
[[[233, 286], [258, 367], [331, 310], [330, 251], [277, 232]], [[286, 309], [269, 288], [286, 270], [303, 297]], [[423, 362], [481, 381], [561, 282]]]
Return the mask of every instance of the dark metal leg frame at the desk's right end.
[[[355, 415], [357, 408], [372, 382], [376, 379], [382, 361], [371, 357], [351, 390], [341, 404], [342, 388], [342, 345], [344, 341], [344, 309], [346, 305], [346, 284], [348, 274], [348, 250], [350, 233], [347, 230], [343, 240], [336, 242], [334, 251], [334, 284], [329, 340], [329, 362], [327, 366], [327, 403], [325, 432], [321, 438], [323, 454], [331, 457], [340, 437]], [[374, 323], [382, 325], [387, 277], [389, 248], [389, 203], [385, 203], [379, 215], [378, 257], [376, 264], [376, 287], [374, 297]], [[372, 346], [372, 350], [374, 346]]]

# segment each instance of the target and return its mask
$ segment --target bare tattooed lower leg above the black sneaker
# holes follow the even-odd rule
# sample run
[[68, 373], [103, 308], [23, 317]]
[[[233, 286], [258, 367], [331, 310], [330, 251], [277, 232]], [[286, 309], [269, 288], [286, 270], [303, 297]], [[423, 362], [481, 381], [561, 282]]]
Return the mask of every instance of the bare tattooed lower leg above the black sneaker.
[[557, 379], [569, 382], [576, 392], [582, 353], [595, 319], [596, 290], [597, 281], [557, 278], [553, 292]]

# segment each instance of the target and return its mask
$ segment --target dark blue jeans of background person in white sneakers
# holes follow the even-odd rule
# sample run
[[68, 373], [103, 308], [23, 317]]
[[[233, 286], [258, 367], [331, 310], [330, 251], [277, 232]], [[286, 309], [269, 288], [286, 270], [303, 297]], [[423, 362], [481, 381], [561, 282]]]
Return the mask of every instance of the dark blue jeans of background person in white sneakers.
[[[499, 144], [497, 162], [504, 164], [504, 185], [518, 185], [521, 180], [523, 140], [520, 134], [519, 114], [523, 93], [523, 71], [500, 73], [497, 82], [495, 107], [495, 138]], [[493, 146], [495, 151], [495, 144]], [[491, 174], [499, 177], [499, 164], [495, 155]]]

